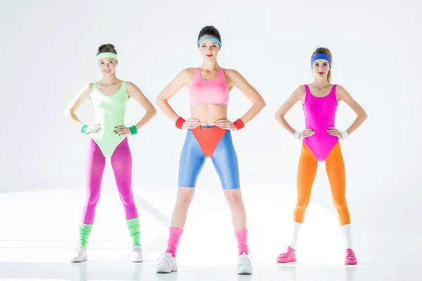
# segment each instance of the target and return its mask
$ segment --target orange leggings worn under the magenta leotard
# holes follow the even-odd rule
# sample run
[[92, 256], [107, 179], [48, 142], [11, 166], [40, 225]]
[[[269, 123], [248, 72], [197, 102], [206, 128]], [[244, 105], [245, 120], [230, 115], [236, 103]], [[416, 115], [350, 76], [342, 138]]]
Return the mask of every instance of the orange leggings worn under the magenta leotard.
[[[302, 143], [302, 152], [298, 167], [298, 202], [296, 203], [293, 219], [297, 223], [303, 223], [305, 211], [311, 198], [312, 184], [314, 183], [318, 161], [311, 150]], [[326, 172], [331, 186], [331, 195], [335, 209], [338, 211], [340, 225], [350, 223], [350, 214], [347, 209], [345, 190], [345, 164], [340, 149], [340, 143], [336, 143], [326, 159]]]

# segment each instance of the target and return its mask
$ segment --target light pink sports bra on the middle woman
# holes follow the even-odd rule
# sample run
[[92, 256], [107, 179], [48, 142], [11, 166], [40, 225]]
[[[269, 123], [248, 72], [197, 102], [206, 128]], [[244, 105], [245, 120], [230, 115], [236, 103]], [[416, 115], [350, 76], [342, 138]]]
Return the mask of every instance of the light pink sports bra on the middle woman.
[[189, 100], [191, 105], [227, 105], [229, 103], [229, 87], [227, 87], [223, 68], [220, 67], [215, 79], [205, 80], [200, 77], [200, 68], [198, 67], [189, 87]]

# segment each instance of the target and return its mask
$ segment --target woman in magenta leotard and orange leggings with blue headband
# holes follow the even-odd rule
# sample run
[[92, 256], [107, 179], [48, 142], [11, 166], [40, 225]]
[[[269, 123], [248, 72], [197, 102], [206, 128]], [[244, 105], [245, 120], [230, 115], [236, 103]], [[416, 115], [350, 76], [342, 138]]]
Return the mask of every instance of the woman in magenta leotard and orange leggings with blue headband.
[[[311, 197], [318, 162], [325, 162], [333, 202], [338, 211], [345, 241], [345, 263], [357, 263], [352, 250], [350, 214], [345, 198], [345, 165], [338, 139], [347, 138], [350, 133], [353, 133], [365, 121], [366, 112], [342, 86], [330, 83], [331, 58], [328, 48], [317, 48], [311, 58], [314, 81], [312, 84], [299, 86], [276, 112], [276, 119], [281, 126], [302, 141], [298, 167], [298, 201], [293, 214], [292, 239], [286, 251], [277, 257], [279, 263], [296, 261], [295, 247]], [[284, 115], [299, 100], [303, 105], [306, 124], [306, 129], [301, 133], [295, 131], [284, 119]], [[353, 124], [341, 132], [335, 128], [334, 124], [335, 112], [340, 100], [343, 100], [357, 114]]]

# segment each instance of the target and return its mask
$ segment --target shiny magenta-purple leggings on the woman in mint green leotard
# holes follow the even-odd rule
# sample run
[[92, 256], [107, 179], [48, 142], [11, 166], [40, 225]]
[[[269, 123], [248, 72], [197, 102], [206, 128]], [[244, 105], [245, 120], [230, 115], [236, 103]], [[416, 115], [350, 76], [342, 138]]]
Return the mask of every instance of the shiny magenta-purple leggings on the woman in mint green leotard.
[[[117, 145], [111, 156], [111, 166], [115, 174], [117, 190], [119, 190], [126, 219], [137, 218], [138, 211], [132, 194], [132, 155], [127, 138], [124, 138]], [[82, 213], [82, 223], [84, 224], [94, 223], [95, 208], [100, 199], [104, 168], [106, 168], [106, 157], [95, 141], [90, 138], [87, 153], [87, 203]]]

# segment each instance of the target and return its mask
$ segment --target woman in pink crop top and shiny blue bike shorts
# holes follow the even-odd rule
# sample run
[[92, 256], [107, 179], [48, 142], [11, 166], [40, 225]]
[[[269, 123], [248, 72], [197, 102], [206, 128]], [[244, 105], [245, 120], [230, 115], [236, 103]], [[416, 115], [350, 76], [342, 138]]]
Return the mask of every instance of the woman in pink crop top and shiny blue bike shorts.
[[[242, 129], [261, 110], [265, 103], [260, 94], [236, 70], [223, 69], [217, 63], [222, 46], [217, 29], [204, 27], [198, 36], [198, 48], [203, 57], [200, 67], [181, 71], [165, 87], [157, 98], [157, 104], [173, 120], [179, 129], [186, 129], [186, 141], [179, 163], [179, 190], [170, 226], [167, 251], [157, 266], [158, 273], [177, 270], [176, 251], [179, 238], [186, 223], [196, 181], [207, 158], [219, 176], [224, 195], [231, 209], [236, 239], [238, 241], [238, 274], [252, 274], [248, 258], [248, 244], [245, 207], [240, 190], [238, 161], [231, 131]], [[179, 117], [170, 107], [168, 100], [181, 88], [188, 88], [191, 104], [191, 118]], [[229, 93], [238, 88], [252, 102], [250, 110], [235, 122], [227, 119]], [[210, 247], [210, 241], [203, 241], [202, 247]], [[206, 249], [203, 249], [203, 251]]]

